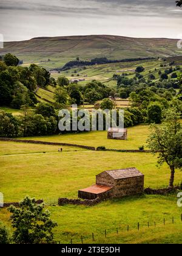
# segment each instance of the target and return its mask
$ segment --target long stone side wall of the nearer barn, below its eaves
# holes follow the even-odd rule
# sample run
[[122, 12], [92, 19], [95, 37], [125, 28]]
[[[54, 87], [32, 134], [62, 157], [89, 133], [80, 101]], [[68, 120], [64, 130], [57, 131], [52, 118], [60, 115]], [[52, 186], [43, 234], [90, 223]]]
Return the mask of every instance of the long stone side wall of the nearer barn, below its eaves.
[[144, 191], [144, 176], [130, 177], [127, 179], [115, 180], [115, 186], [111, 191], [111, 197], [120, 198], [141, 194]]

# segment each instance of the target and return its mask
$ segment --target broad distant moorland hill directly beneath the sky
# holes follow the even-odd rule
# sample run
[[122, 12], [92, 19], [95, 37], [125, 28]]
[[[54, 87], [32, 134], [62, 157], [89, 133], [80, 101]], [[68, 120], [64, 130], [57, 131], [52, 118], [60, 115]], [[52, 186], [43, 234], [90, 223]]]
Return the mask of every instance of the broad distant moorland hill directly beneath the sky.
[[112, 35], [39, 37], [27, 41], [5, 42], [0, 55], [16, 54], [24, 65], [37, 63], [45, 68], [63, 66], [79, 57], [126, 59], [136, 57], [172, 57], [182, 54], [177, 40], [167, 38], [129, 38]]

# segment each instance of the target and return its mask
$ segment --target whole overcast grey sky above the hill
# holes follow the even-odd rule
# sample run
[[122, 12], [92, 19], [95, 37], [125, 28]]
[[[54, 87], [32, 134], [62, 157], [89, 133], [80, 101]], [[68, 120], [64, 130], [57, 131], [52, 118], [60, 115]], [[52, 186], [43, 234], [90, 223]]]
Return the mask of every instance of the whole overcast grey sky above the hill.
[[0, 0], [5, 41], [61, 35], [181, 38], [175, 0]]

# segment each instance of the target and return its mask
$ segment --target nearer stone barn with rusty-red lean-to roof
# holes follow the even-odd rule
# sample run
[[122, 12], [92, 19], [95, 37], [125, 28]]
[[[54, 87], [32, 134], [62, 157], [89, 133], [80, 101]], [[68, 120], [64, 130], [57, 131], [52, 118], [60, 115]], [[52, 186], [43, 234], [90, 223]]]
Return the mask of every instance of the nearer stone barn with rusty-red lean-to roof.
[[96, 184], [78, 191], [78, 197], [96, 199], [121, 198], [141, 194], [144, 191], [144, 175], [136, 168], [104, 171], [96, 176]]

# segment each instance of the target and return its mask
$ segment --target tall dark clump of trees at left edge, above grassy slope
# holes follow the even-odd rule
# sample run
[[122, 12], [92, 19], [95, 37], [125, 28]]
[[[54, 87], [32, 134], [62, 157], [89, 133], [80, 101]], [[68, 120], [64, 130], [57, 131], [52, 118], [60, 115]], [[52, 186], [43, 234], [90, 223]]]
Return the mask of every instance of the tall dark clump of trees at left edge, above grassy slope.
[[49, 84], [50, 73], [34, 64], [30, 68], [16, 66], [16, 63], [13, 65], [16, 59], [7, 54], [4, 62], [0, 63], [0, 105], [19, 109], [21, 105], [33, 106], [37, 103], [33, 92], [37, 85], [45, 87]]

